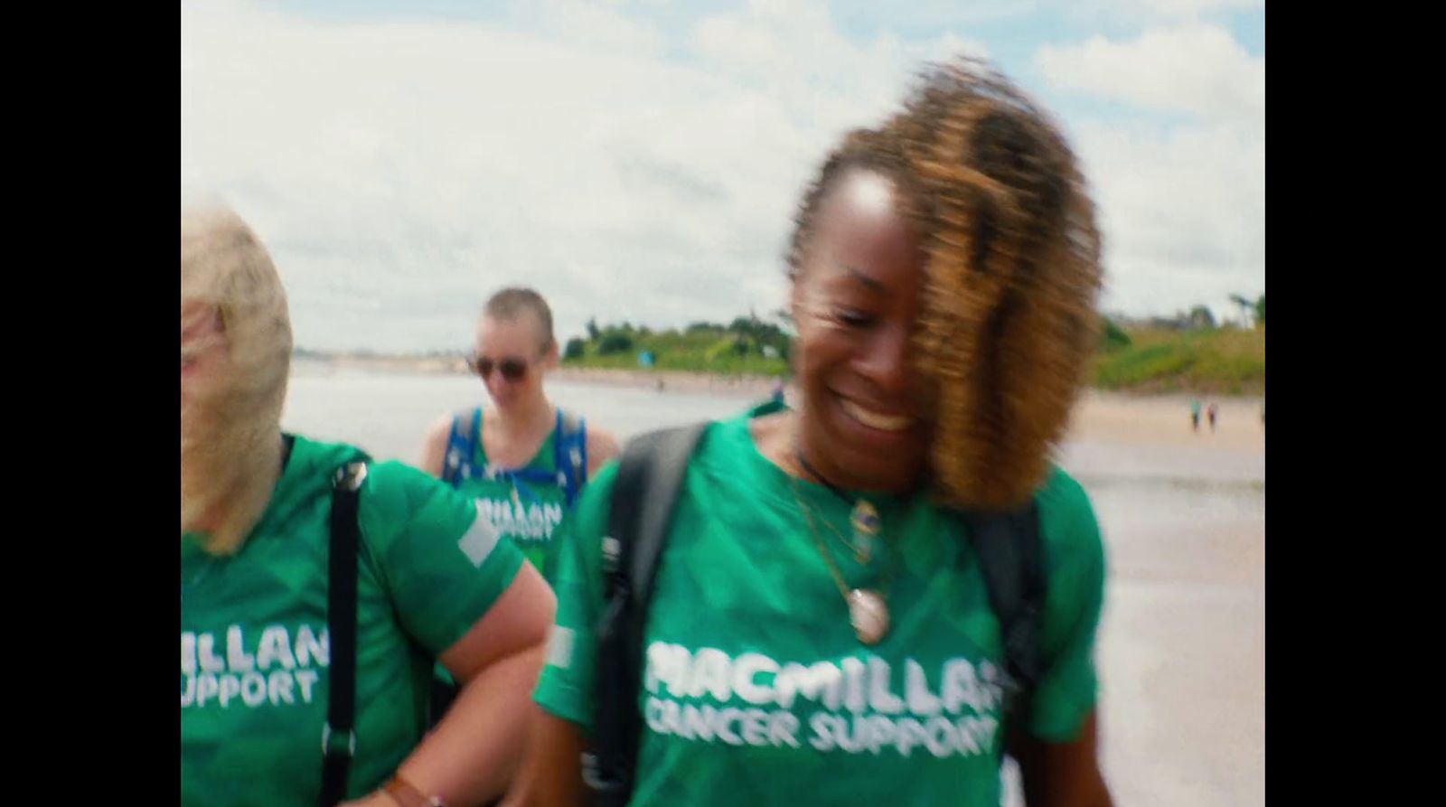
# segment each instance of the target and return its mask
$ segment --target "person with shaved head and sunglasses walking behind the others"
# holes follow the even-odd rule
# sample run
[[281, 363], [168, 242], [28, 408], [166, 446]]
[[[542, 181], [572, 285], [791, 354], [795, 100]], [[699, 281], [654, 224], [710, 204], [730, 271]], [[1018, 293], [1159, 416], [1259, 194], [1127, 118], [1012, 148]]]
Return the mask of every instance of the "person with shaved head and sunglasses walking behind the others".
[[440, 417], [422, 445], [422, 470], [477, 500], [482, 518], [551, 574], [552, 531], [587, 480], [617, 456], [617, 440], [548, 401], [557, 367], [552, 309], [536, 291], [492, 295], [477, 323], [469, 367], [492, 401]]

